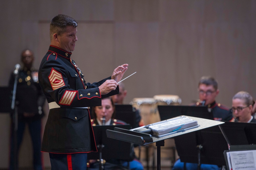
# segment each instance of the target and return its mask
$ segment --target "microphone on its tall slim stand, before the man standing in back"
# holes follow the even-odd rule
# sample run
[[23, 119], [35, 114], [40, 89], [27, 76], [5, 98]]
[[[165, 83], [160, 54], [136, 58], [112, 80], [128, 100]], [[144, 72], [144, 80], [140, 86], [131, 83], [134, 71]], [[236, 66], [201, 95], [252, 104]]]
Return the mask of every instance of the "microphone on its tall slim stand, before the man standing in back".
[[18, 169], [18, 147], [17, 147], [17, 130], [18, 130], [18, 110], [15, 103], [16, 98], [16, 88], [17, 88], [17, 79], [18, 79], [18, 72], [14, 72], [15, 78], [14, 78], [14, 85], [13, 85], [13, 96], [12, 96], [12, 105], [11, 109], [14, 110], [12, 115], [12, 129], [13, 129], [13, 151], [14, 151], [14, 169]]

